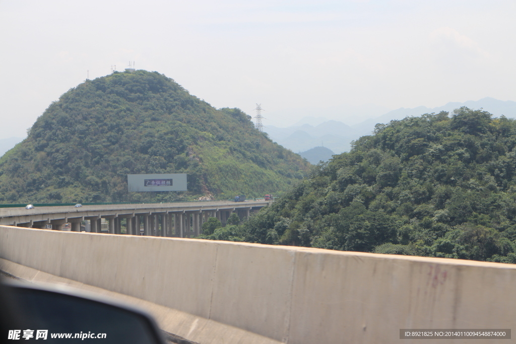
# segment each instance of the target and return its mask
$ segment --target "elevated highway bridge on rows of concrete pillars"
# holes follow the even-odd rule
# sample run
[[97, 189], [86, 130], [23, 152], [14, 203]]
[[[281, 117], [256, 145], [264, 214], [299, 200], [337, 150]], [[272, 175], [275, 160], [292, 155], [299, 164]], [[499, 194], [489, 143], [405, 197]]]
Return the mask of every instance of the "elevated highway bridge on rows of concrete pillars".
[[[62, 231], [70, 223], [72, 232], [80, 232], [80, 223], [87, 221], [91, 233], [102, 233], [101, 222], [108, 222], [109, 234], [145, 235], [162, 237], [191, 237], [202, 232], [202, 224], [216, 217], [225, 225], [235, 212], [240, 219], [250, 212], [267, 206], [271, 201], [248, 200], [197, 201], [185, 203], [143, 203], [74, 206], [45, 206], [34, 209], [1, 208], [0, 225], [47, 228]], [[124, 231], [122, 231], [124, 230]]]

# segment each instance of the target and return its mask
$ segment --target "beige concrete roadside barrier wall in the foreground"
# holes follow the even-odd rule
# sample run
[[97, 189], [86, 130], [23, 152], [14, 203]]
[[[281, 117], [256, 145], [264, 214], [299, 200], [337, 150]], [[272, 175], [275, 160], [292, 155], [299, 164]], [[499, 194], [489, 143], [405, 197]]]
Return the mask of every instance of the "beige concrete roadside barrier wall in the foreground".
[[514, 265], [9, 226], [0, 257], [296, 344], [516, 328]]

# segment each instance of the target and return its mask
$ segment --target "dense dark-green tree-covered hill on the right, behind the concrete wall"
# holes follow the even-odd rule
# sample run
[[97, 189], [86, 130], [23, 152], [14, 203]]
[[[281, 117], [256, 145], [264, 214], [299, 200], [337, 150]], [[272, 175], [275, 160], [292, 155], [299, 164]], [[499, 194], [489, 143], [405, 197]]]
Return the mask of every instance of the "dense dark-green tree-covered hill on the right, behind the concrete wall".
[[516, 121], [376, 126], [243, 225], [247, 241], [516, 263]]

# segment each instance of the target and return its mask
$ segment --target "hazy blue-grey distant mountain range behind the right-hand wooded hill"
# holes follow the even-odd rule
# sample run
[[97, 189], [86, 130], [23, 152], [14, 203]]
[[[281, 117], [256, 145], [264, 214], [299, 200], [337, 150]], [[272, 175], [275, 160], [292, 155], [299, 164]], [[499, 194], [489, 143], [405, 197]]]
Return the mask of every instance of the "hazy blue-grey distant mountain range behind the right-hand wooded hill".
[[[347, 125], [340, 121], [327, 120], [325, 118], [305, 117], [293, 126], [281, 128], [267, 126], [264, 130], [273, 140], [296, 153], [308, 151], [314, 147], [324, 146], [329, 150], [340, 154], [348, 152], [351, 141], [364, 135], [373, 133], [377, 123], [389, 123], [392, 120], [401, 120], [405, 117], [420, 116], [424, 113], [439, 113], [440, 111], [453, 111], [461, 106], [471, 109], [484, 109], [499, 117], [516, 118], [516, 102], [499, 101], [491, 97], [482, 98], [479, 101], [467, 101], [464, 103], [450, 102], [444, 106], [428, 108], [418, 106], [415, 108], [399, 108], [389, 111], [382, 116], [367, 119], [361, 123]], [[304, 124], [303, 124], [304, 122]], [[317, 160], [326, 160], [320, 159]], [[310, 160], [309, 160], [310, 161]], [[315, 160], [314, 160], [315, 161]]]

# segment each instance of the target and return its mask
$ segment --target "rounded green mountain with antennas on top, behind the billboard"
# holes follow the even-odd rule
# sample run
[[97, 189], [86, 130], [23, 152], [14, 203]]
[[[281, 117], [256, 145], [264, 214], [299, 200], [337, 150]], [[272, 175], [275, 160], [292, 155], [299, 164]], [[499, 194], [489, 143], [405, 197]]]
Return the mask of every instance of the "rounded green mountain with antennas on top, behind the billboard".
[[[281, 193], [309, 163], [239, 109], [215, 109], [157, 72], [63, 94], [0, 159], [1, 203], [126, 202]], [[187, 192], [127, 192], [127, 174], [187, 173]]]

